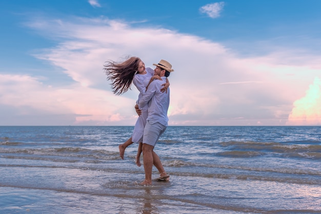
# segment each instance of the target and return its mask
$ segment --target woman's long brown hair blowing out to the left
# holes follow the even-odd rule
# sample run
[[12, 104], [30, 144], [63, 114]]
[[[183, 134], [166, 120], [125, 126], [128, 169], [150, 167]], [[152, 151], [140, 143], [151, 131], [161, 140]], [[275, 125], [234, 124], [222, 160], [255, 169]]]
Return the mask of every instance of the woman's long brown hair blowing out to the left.
[[134, 56], [124, 62], [107, 61], [104, 70], [107, 79], [112, 81], [111, 88], [114, 94], [121, 95], [130, 89], [140, 61], [139, 57]]

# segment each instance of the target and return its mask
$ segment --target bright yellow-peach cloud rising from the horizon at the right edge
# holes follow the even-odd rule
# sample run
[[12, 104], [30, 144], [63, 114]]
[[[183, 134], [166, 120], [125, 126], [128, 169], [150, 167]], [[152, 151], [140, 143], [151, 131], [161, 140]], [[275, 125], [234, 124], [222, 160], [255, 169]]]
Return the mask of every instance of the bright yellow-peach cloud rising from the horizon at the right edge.
[[306, 96], [296, 100], [288, 118], [288, 125], [321, 124], [321, 79], [314, 78]]

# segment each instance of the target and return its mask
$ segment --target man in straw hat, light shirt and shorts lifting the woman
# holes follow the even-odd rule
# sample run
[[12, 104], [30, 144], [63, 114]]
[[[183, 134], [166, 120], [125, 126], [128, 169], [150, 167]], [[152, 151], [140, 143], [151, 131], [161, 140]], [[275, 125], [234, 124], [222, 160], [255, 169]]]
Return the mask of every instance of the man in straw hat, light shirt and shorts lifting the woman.
[[148, 105], [147, 122], [144, 129], [143, 136], [143, 162], [145, 170], [145, 180], [141, 185], [152, 184], [152, 167], [153, 164], [158, 170], [160, 170], [159, 179], [165, 180], [169, 178], [169, 175], [165, 172], [165, 169], [160, 162], [158, 155], [153, 151], [156, 142], [160, 135], [162, 135], [168, 125], [167, 111], [169, 106], [170, 90], [167, 89], [166, 93], [162, 93], [160, 88], [162, 84], [166, 83], [166, 78], [170, 75], [170, 72], [174, 71], [172, 65], [166, 60], [160, 60], [159, 63], [153, 64], [156, 66], [154, 69], [155, 75], [157, 74], [162, 80], [155, 79], [148, 85], [148, 90], [138, 101], [138, 108], [142, 109], [145, 105]]

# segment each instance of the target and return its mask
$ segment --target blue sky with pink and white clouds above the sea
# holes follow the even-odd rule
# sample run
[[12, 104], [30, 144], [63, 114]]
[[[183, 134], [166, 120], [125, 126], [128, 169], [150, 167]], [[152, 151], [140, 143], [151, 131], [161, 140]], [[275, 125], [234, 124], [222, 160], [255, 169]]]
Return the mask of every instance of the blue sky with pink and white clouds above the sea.
[[321, 125], [321, 1], [0, 0], [0, 125], [134, 125], [107, 60], [165, 59], [169, 125]]

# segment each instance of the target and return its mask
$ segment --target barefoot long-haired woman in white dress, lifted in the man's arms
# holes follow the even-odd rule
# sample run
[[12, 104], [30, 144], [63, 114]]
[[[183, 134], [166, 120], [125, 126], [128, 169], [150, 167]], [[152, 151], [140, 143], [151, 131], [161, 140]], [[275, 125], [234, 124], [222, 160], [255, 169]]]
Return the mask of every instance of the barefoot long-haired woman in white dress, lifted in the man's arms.
[[[107, 64], [104, 65], [104, 70], [107, 79], [112, 81], [112, 89], [113, 93], [116, 95], [121, 95], [130, 89], [131, 83], [134, 83], [135, 87], [139, 91], [138, 100], [145, 94], [148, 85], [154, 79], [161, 79], [158, 75], [154, 75], [154, 70], [151, 68], [145, 68], [145, 63], [139, 57], [130, 57], [124, 62], [115, 62], [115, 61], [107, 61]], [[160, 91], [166, 92], [169, 87], [169, 82], [164, 84], [164, 88]], [[147, 119], [147, 107], [139, 110], [138, 105], [135, 105], [135, 110], [139, 117], [137, 118], [134, 131], [132, 137], [130, 137], [125, 143], [118, 146], [119, 148], [119, 156], [124, 159], [124, 153], [127, 146], [132, 144], [133, 142], [139, 143], [137, 156], [136, 156], [136, 164], [137, 166], [141, 166], [140, 156], [142, 153], [142, 141], [144, 134], [144, 127]], [[163, 167], [162, 167], [163, 168]], [[163, 169], [158, 169], [160, 173], [160, 178], [164, 178], [167, 174]]]

